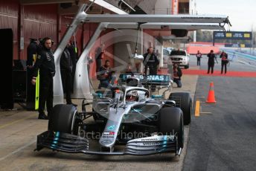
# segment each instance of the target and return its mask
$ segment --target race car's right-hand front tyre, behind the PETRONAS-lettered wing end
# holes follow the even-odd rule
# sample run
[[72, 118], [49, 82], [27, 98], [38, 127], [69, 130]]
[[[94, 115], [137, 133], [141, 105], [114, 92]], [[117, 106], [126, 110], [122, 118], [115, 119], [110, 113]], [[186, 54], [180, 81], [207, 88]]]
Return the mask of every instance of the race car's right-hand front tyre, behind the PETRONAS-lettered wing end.
[[178, 149], [184, 145], [184, 126], [182, 110], [176, 107], [162, 108], [159, 112], [159, 132], [164, 135], [176, 134]]

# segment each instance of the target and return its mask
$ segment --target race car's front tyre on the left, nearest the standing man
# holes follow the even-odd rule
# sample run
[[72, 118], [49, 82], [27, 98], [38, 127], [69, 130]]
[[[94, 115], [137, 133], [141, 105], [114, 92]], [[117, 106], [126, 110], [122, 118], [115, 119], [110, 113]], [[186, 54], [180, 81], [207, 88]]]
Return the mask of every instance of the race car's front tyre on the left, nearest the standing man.
[[49, 118], [48, 130], [78, 135], [80, 125], [77, 108], [73, 105], [56, 105]]

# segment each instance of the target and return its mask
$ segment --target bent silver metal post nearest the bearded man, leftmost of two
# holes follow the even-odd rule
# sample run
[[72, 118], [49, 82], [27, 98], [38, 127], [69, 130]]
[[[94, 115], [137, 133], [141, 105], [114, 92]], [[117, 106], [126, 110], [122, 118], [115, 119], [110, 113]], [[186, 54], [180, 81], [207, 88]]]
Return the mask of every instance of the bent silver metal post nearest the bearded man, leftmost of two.
[[84, 12], [85, 9], [86, 4], [81, 5], [73, 22], [71, 23], [71, 25], [68, 26], [68, 29], [63, 36], [63, 39], [61, 39], [58, 48], [56, 49], [56, 51], [54, 51], [56, 70], [56, 74], [54, 76], [54, 105], [63, 103], [63, 84], [60, 76], [60, 57], [61, 54], [63, 54], [65, 46], [68, 45], [69, 39], [71, 38], [75, 30], [77, 30], [78, 25], [80, 25], [80, 22], [83, 21], [83, 19], [86, 19], [87, 15]]

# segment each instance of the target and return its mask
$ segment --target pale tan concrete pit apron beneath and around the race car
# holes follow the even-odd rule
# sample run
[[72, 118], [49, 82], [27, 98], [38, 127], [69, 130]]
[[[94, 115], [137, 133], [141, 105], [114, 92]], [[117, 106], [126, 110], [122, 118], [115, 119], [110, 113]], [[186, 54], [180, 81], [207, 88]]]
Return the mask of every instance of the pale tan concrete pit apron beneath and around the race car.
[[[182, 88], [174, 85], [173, 91], [190, 91], [193, 97], [196, 80], [197, 76], [184, 75]], [[74, 100], [74, 103], [81, 104], [81, 100]], [[185, 148], [180, 157], [173, 154], [98, 156], [50, 149], [33, 152], [36, 135], [47, 130], [48, 121], [37, 120], [37, 112], [25, 111], [17, 104], [16, 108], [19, 110], [0, 112], [0, 170], [182, 170], [189, 126], [185, 126]]]

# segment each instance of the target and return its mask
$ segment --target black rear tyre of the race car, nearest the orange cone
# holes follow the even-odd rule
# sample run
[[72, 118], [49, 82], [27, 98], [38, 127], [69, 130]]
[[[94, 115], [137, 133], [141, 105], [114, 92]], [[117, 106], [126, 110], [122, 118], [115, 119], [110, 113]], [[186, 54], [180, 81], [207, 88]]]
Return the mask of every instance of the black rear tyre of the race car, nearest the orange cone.
[[188, 125], [189, 123], [191, 123], [191, 94], [188, 92], [174, 92], [170, 94], [169, 100], [174, 100], [176, 102], [176, 107], [182, 109], [184, 125]]

